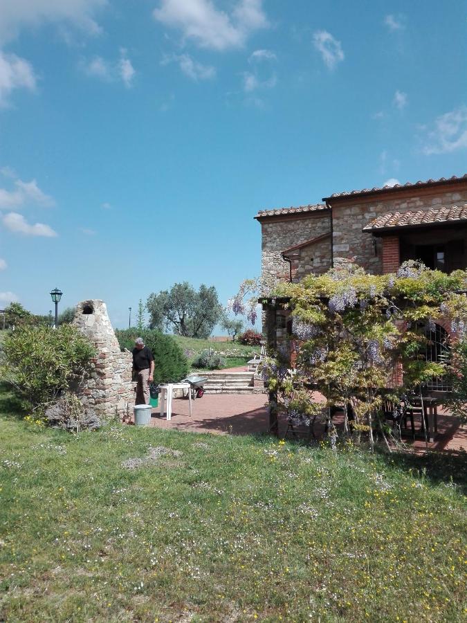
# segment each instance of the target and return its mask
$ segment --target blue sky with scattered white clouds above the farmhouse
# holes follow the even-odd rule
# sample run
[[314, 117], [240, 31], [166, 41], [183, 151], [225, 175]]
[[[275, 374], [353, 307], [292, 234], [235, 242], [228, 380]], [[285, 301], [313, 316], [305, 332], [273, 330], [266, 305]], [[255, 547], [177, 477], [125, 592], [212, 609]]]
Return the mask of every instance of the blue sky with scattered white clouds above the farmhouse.
[[226, 303], [258, 210], [467, 172], [466, 4], [0, 0], [0, 308]]

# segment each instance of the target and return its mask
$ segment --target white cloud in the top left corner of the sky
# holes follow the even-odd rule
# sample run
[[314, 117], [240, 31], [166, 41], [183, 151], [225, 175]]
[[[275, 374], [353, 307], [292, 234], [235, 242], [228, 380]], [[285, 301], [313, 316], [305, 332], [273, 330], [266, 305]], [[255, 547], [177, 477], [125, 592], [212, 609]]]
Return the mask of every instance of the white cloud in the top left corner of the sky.
[[90, 35], [101, 32], [94, 20], [107, 0], [0, 0], [0, 39], [16, 37], [21, 28], [46, 23], [71, 24]]

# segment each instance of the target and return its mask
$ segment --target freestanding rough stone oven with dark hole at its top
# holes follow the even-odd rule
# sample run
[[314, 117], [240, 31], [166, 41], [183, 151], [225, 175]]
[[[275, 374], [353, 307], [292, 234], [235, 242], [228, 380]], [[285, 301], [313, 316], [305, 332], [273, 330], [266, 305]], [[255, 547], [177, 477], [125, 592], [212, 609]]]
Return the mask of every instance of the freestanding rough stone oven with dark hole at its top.
[[122, 417], [134, 403], [131, 353], [120, 351], [104, 301], [92, 299], [78, 303], [73, 325], [97, 350], [91, 372], [77, 390], [80, 399], [102, 419]]

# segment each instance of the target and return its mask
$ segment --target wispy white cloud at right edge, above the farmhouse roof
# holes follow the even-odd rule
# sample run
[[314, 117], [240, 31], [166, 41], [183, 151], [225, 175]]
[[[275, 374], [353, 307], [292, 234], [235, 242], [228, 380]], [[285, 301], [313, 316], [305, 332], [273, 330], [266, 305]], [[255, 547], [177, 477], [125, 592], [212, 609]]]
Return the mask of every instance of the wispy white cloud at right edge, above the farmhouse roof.
[[423, 154], [450, 154], [467, 147], [467, 106], [461, 106], [434, 120], [425, 138]]

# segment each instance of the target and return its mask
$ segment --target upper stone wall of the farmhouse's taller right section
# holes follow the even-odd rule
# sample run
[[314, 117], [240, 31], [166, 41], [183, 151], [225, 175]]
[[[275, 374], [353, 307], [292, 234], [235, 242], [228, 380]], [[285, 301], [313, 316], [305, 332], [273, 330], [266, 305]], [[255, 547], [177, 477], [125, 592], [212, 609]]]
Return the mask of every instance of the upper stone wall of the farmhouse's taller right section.
[[370, 221], [384, 213], [407, 212], [409, 210], [430, 210], [461, 206], [467, 201], [467, 189], [445, 186], [443, 188], [408, 188], [392, 195], [376, 197], [347, 197], [344, 201], [332, 201], [334, 255], [355, 258], [360, 266], [370, 273], [383, 273], [383, 242], [362, 229]]

